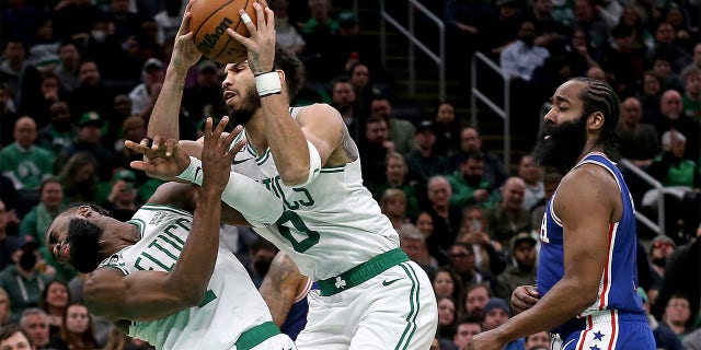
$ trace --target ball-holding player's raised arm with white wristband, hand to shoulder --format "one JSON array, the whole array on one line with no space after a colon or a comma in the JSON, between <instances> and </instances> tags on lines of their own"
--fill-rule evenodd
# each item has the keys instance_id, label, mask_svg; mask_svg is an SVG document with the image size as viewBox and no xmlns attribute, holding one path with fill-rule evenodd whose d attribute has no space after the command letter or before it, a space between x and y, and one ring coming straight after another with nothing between
<instances>
[{"instance_id":1,"label":"ball-holding player's raised arm with white wristband, hand to shoulder","mask_svg":"<svg viewBox=\"0 0 701 350\"><path fill-rule=\"evenodd\" d=\"M246 38L233 31L228 33L249 51L246 63L261 97L265 138L280 178L288 186L301 185L310 180L341 144L343 121L334 108L321 104L306 107L297 120L290 117L289 102L300 77L288 75L292 70L281 67L292 62L286 61L285 55L276 50L273 11L260 3L253 7L257 23L244 20L251 36ZM242 19L248 18L243 11L239 14ZM290 85L297 88L290 90Z\"/></svg>"}]
</instances>

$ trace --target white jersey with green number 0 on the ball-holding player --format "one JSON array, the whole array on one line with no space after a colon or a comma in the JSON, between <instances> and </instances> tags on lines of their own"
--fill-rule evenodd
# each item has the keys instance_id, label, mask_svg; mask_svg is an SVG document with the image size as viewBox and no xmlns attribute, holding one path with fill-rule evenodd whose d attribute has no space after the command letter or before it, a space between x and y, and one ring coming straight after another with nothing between
<instances>
[{"instance_id":1,"label":"white jersey with green number 0 on the ball-holding player","mask_svg":"<svg viewBox=\"0 0 701 350\"><path fill-rule=\"evenodd\" d=\"M299 109L292 108L292 117ZM337 276L399 248L397 231L363 186L359 160L323 167L303 187L283 184L269 149L258 153L246 144L235 155L233 168L283 200L286 211L278 224L254 230L289 254L313 280Z\"/></svg>"}]
</instances>

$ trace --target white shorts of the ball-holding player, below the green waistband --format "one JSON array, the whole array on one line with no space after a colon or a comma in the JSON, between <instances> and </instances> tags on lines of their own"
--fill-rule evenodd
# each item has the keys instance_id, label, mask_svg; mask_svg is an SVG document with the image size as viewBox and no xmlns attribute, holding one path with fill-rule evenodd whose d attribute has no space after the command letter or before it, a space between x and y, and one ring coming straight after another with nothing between
<instances>
[{"instance_id":1,"label":"white shorts of the ball-holding player, below the green waistband","mask_svg":"<svg viewBox=\"0 0 701 350\"><path fill-rule=\"evenodd\" d=\"M414 261L333 295L312 290L308 301L307 326L296 341L300 350L425 350L438 326L430 280Z\"/></svg>"}]
</instances>

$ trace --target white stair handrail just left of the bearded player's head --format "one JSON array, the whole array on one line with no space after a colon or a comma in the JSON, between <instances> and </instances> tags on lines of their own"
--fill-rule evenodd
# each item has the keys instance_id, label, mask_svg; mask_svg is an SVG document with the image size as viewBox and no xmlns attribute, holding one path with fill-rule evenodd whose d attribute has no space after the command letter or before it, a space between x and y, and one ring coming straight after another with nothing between
<instances>
[{"instance_id":1,"label":"white stair handrail just left of the bearded player's head","mask_svg":"<svg viewBox=\"0 0 701 350\"><path fill-rule=\"evenodd\" d=\"M490 97L483 94L478 88L478 63L484 63L504 80L504 107L497 106ZM504 119L504 166L512 164L512 104L510 104L510 80L504 77L502 69L482 52L474 52L472 56L470 73L470 113L472 114L472 127L478 126L478 98L487 105L492 112Z\"/></svg>"}]
</instances>

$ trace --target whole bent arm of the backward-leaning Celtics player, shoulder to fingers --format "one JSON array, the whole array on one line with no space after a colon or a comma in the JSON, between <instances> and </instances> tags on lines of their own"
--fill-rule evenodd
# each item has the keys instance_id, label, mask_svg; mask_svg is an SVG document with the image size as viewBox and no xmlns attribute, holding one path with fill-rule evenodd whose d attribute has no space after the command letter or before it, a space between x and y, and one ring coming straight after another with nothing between
<instances>
[{"instance_id":1,"label":"whole bent arm of the backward-leaning Celtics player, shoulder to fingers","mask_svg":"<svg viewBox=\"0 0 701 350\"><path fill-rule=\"evenodd\" d=\"M202 302L217 260L219 196L227 186L233 159L229 144L234 136L221 137L225 126L226 120L212 130L211 119L207 120L203 185L198 189L189 234L172 270L143 270L124 276L117 269L97 269L83 290L85 303L93 313L111 320L151 320Z\"/></svg>"}]
</instances>

